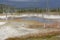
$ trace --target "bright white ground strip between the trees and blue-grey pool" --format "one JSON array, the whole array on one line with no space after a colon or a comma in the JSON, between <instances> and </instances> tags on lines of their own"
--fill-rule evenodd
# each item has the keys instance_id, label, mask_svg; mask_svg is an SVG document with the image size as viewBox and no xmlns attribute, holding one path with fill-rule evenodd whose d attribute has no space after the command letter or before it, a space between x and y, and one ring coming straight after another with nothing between
<instances>
[{"instance_id":1,"label":"bright white ground strip between the trees and blue-grey pool","mask_svg":"<svg viewBox=\"0 0 60 40\"><path fill-rule=\"evenodd\" d=\"M51 13L51 12L50 12ZM53 13L52 13L53 14ZM60 19L60 15L52 15L52 14L44 14L44 13L30 13L30 14L28 14L28 13L22 13L22 14L14 14L14 15L9 15L8 14L8 16L7 17L31 17L31 16L37 16L37 17L43 17L43 18L46 18L46 19ZM0 18L2 18L2 19L4 19L4 18L6 18L6 16L5 15L3 15L3 14L0 14Z\"/></svg>"}]
</instances>

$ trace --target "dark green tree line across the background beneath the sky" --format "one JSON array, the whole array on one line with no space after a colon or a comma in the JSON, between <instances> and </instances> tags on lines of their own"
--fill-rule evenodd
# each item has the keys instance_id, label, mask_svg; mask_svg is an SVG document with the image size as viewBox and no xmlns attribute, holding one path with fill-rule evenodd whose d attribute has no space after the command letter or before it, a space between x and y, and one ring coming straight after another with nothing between
<instances>
[{"instance_id":1,"label":"dark green tree line across the background beneath the sky","mask_svg":"<svg viewBox=\"0 0 60 40\"><path fill-rule=\"evenodd\" d=\"M5 9L5 11L8 10L8 9ZM43 9L43 8L19 8L19 9L14 9L14 10L11 10L11 11L14 11L15 12L16 10L16 13L25 13L25 12L33 12L33 13L42 13L42 12L47 12L46 9ZM9 10L9 12L11 12ZM60 12L60 9L59 8L56 8L56 9L49 9L50 12ZM3 13L3 9L0 9L0 13Z\"/></svg>"}]
</instances>

